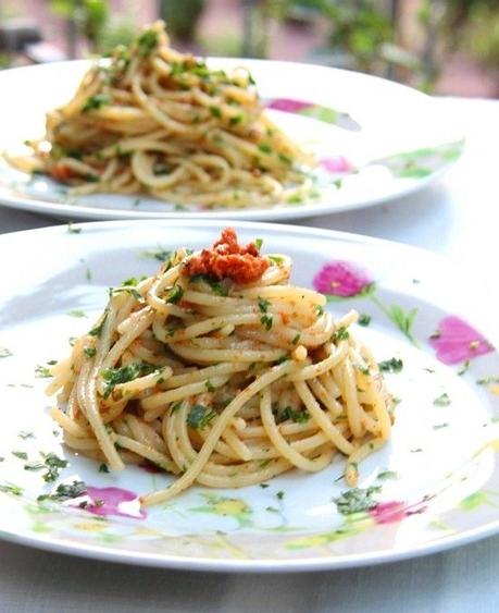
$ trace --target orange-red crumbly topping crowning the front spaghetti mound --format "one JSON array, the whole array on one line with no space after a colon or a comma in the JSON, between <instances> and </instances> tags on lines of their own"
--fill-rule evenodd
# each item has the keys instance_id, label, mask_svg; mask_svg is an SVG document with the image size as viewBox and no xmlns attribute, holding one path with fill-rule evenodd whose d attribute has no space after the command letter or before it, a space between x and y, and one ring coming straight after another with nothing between
<instances>
[{"instance_id":1,"label":"orange-red crumbly topping crowning the front spaghetti mound","mask_svg":"<svg viewBox=\"0 0 499 613\"><path fill-rule=\"evenodd\" d=\"M251 283L260 279L269 266L269 260L260 255L254 243L241 247L236 231L225 228L211 249L203 249L186 261L183 274L207 274L213 279L228 278L236 283Z\"/></svg>"}]
</instances>

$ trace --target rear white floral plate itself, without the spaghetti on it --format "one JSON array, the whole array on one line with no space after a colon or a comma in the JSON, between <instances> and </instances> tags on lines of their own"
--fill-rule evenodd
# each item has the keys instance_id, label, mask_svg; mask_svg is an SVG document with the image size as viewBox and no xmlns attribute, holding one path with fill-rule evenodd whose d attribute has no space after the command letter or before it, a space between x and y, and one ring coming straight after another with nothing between
<instances>
[{"instance_id":1,"label":"rear white floral plate itself, without the spaghetti on it","mask_svg":"<svg viewBox=\"0 0 499 613\"><path fill-rule=\"evenodd\" d=\"M202 210L147 196L70 198L46 177L0 161L0 203L66 219L210 217L284 220L383 203L422 188L445 172L463 147L459 125L424 94L382 78L323 66L258 60L210 59L246 65L269 112L321 160L316 197L272 208ZM89 62L63 62L0 72L0 150L17 151L45 132L45 114L76 89Z\"/></svg>"}]
</instances>

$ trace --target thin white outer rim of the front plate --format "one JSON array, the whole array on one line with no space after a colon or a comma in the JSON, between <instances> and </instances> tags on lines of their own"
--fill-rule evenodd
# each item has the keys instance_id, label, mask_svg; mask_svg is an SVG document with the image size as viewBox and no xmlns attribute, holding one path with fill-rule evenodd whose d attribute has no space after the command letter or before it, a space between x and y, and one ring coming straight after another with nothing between
<instances>
[{"instance_id":1,"label":"thin white outer rim of the front plate","mask_svg":"<svg viewBox=\"0 0 499 613\"><path fill-rule=\"evenodd\" d=\"M186 220L164 220L165 224L170 226L183 226L184 229L197 228L197 229L220 229L220 225L234 225L237 229L242 230L254 230L254 231L267 231L270 233L277 233L286 235L288 233L296 233L303 237L322 237L328 238L332 243L335 242L349 242L355 244L367 244L378 246L379 248L389 249L402 249L406 253L414 254L414 256L420 255L425 258L431 258L437 260L444 266L456 268L458 261L453 258L445 256L442 254L432 252L414 245L408 245L404 243L377 238L372 236L366 236L362 234L357 234L352 232L342 232L336 230L328 230L322 228L311 228L303 225L291 225L282 223L261 223L253 221L236 221L236 220L217 220L217 219L197 219L192 220L192 223L186 223ZM136 225L141 228L137 229ZM104 231L105 233L113 233L115 231L134 231L140 232L142 228L152 229L154 232L160 232L161 228L158 223L153 223L151 220L134 220L133 224L130 220L126 221L93 221L78 223L78 228L83 231L97 230ZM9 243L13 245L18 245L22 248L24 241L29 240L29 237L35 233L37 236L42 235L53 235L60 234L61 237L65 236L67 232L64 224L51 225L47 228L38 228L33 230L22 230L17 232L11 232L5 234L0 234L0 249L9 247ZM173 240L173 237L172 237ZM489 332L489 331L488 331ZM492 331L490 331L492 332ZM496 335L492 334L490 338L492 344L497 346ZM374 564L386 564L403 560L411 560L420 557L423 555L429 555L434 553L445 552L457 547L462 547L481 539L491 537L499 534L499 516L489 520L485 524L461 530L458 534L445 535L437 537L435 540L422 543L422 544L411 544L399 547L396 550L384 550L382 552L367 552L367 553L353 553L353 554L341 554L335 556L333 553L324 557L317 556L304 556L302 559L215 559L207 556L191 556L183 557L176 554L157 554L157 553L142 553L140 551L126 551L120 549L113 549L104 544L99 544L96 547L95 543L79 543L75 541L64 540L62 538L53 539L50 536L42 536L36 532L27 535L23 532L13 532L9 530L9 527L0 526L0 539L8 542L22 544L25 547L33 547L39 550L51 551L55 553L62 553L66 555L73 555L78 557L101 560L107 562L115 562L130 565L150 566L150 567L162 567L170 569L179 571L204 571L204 572L217 572L217 573L296 573L296 572L319 572L319 571L336 571L352 567L363 567L366 565Z\"/></svg>"}]
</instances>

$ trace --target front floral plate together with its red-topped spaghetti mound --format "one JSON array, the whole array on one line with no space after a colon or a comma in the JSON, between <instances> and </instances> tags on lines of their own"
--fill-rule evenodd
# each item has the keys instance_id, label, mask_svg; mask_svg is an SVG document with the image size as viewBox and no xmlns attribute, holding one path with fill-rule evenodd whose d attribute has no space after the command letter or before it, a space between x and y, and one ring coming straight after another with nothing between
<instances>
[{"instance_id":1,"label":"front floral plate together with its red-topped spaghetti mound","mask_svg":"<svg viewBox=\"0 0 499 613\"><path fill-rule=\"evenodd\" d=\"M10 234L0 255L3 538L282 572L497 532L494 314L437 256L215 220Z\"/></svg>"}]
</instances>

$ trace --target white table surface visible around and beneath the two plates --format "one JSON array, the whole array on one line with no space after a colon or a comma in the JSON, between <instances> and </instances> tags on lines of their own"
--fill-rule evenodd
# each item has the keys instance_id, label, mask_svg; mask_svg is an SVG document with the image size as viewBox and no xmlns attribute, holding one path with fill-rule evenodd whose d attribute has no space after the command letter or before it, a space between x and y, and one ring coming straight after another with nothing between
<instances>
[{"instance_id":1,"label":"white table surface visible around and beneath the two plates","mask_svg":"<svg viewBox=\"0 0 499 613\"><path fill-rule=\"evenodd\" d=\"M461 160L412 196L300 223L446 254L489 278L497 261L499 100L439 98L463 125ZM59 223L0 207L0 232ZM496 255L497 257L497 255ZM499 606L499 536L396 564L298 575L228 575L124 566L0 542L0 612L475 612Z\"/></svg>"}]
</instances>

